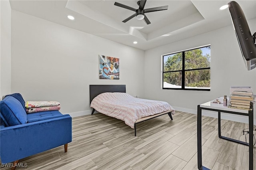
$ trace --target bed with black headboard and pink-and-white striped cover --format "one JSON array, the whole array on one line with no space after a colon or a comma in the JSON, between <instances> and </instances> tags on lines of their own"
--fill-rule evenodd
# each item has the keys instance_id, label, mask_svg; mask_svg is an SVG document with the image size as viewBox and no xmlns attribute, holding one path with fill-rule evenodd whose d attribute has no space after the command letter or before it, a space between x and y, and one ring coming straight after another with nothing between
<instances>
[{"instance_id":1,"label":"bed with black headboard and pink-and-white striped cover","mask_svg":"<svg viewBox=\"0 0 256 170\"><path fill-rule=\"evenodd\" d=\"M138 99L126 93L126 85L90 85L92 115L98 111L115 117L134 128L138 123L168 114L172 119L174 109L166 102Z\"/></svg>"}]
</instances>

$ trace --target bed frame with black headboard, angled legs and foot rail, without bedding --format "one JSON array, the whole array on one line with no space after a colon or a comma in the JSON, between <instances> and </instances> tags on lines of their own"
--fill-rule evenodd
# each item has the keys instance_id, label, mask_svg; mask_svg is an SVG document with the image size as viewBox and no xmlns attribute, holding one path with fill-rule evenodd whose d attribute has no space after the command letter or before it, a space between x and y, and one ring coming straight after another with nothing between
<instances>
[{"instance_id":1,"label":"bed frame with black headboard, angled legs and foot rail, without bedding","mask_svg":"<svg viewBox=\"0 0 256 170\"><path fill-rule=\"evenodd\" d=\"M97 95L101 94L101 93L105 93L105 92L121 92L121 93L126 93L126 85L90 85L90 103L92 103L92 100L94 99L94 97L96 97ZM95 109L92 109L92 115L94 113ZM162 115L168 114L170 119L172 119L172 114L170 111L165 111L162 113L158 113L155 115L151 115L148 117L142 117L141 119L136 120L136 122L134 123L134 136L136 136L136 125L138 123L153 119L155 117L159 117Z\"/></svg>"}]
</instances>

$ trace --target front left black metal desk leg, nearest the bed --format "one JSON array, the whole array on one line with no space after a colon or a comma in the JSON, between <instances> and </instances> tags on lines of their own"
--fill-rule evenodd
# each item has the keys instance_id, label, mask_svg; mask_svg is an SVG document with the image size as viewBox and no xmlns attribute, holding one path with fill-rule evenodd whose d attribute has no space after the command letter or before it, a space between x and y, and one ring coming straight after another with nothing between
<instances>
[{"instance_id":1,"label":"front left black metal desk leg, nearest the bed","mask_svg":"<svg viewBox=\"0 0 256 170\"><path fill-rule=\"evenodd\" d=\"M202 109L197 106L197 166L202 169Z\"/></svg>"}]
</instances>

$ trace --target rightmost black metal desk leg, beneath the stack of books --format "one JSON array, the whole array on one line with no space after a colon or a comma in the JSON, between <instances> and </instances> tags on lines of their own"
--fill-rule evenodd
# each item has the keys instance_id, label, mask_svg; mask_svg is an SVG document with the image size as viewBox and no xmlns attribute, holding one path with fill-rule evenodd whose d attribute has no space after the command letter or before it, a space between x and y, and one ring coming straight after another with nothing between
<instances>
[{"instance_id":1,"label":"rightmost black metal desk leg, beneath the stack of books","mask_svg":"<svg viewBox=\"0 0 256 170\"><path fill-rule=\"evenodd\" d=\"M253 168L253 111L249 111L249 170Z\"/></svg>"}]
</instances>

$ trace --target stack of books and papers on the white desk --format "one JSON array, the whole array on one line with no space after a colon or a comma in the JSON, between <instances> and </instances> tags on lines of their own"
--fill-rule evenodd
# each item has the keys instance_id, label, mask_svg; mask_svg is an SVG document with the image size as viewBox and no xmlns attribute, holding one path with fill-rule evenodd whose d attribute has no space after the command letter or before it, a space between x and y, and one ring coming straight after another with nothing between
<instances>
[{"instance_id":1,"label":"stack of books and papers on the white desk","mask_svg":"<svg viewBox=\"0 0 256 170\"><path fill-rule=\"evenodd\" d=\"M228 107L235 109L251 110L254 100L251 88L230 88Z\"/></svg>"}]
</instances>

